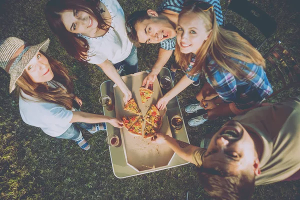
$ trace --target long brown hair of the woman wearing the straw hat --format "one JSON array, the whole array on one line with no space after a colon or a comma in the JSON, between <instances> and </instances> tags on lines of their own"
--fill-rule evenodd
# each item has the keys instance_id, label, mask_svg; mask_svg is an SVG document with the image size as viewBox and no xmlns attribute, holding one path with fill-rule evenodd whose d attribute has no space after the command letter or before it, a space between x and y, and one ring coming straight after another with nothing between
<instances>
[{"instance_id":1,"label":"long brown hair of the woman wearing the straw hat","mask_svg":"<svg viewBox=\"0 0 300 200\"><path fill-rule=\"evenodd\" d=\"M56 80L61 83L65 88L62 87L49 87L46 83L33 82L26 72L23 71L22 75L16 80L17 93L21 95L20 89L27 95L37 98L42 102L56 103L64 106L66 109L72 109L72 98L74 96L72 76L68 75L68 71L57 60L47 56L45 53L40 51L49 61L51 70L54 74L52 80ZM22 98L26 99L21 95Z\"/></svg>"}]
</instances>

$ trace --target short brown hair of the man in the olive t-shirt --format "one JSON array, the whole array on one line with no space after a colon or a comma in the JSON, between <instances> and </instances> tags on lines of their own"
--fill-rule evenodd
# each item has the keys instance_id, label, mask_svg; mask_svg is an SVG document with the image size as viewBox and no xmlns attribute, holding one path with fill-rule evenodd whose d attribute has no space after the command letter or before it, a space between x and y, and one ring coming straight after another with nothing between
<instances>
[{"instance_id":1,"label":"short brown hair of the man in the olive t-shirt","mask_svg":"<svg viewBox=\"0 0 300 200\"><path fill-rule=\"evenodd\" d=\"M247 200L254 191L254 172L241 171L238 175L230 175L218 168L197 169L200 183L208 194L216 199Z\"/></svg>"}]
</instances>

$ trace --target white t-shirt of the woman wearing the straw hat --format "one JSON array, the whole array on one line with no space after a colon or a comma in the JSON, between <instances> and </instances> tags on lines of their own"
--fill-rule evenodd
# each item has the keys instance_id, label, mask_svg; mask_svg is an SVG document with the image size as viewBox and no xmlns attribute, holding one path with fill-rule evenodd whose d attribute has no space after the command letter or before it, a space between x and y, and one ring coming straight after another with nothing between
<instances>
[{"instance_id":1,"label":"white t-shirt of the woman wearing the straw hat","mask_svg":"<svg viewBox=\"0 0 300 200\"><path fill-rule=\"evenodd\" d=\"M53 81L47 82L48 85L53 87L56 87L55 83L61 85L56 81L53 84ZM53 137L64 133L72 124L70 123L73 117L71 110L55 103L40 102L39 99L25 94L22 90L20 92L26 98L19 96L19 110L25 123L40 127L42 131Z\"/></svg>"}]
</instances>

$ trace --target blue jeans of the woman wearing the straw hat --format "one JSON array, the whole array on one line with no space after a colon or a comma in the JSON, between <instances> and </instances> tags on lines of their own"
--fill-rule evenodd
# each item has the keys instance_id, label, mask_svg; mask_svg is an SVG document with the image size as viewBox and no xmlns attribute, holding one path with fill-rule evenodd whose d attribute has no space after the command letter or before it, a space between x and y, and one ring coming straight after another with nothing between
<instances>
[{"instance_id":1,"label":"blue jeans of the woman wearing the straw hat","mask_svg":"<svg viewBox=\"0 0 300 200\"><path fill-rule=\"evenodd\" d=\"M75 122L78 124L81 128L84 128L86 130L91 130L92 129L92 124L91 123L84 123L84 122ZM82 133L77 128L74 123L71 124L71 126L61 135L57 136L56 138L61 138L61 139L71 139L71 140L78 140L82 137Z\"/></svg>"}]
</instances>

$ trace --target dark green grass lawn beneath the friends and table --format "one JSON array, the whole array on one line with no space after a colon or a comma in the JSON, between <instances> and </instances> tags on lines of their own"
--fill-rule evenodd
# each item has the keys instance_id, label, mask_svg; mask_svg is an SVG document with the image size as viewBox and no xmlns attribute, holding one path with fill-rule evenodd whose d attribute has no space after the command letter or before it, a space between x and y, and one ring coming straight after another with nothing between
<instances>
[{"instance_id":1,"label":"dark green grass lawn beneath the friends and table","mask_svg":"<svg viewBox=\"0 0 300 200\"><path fill-rule=\"evenodd\" d=\"M36 44L49 37L47 53L66 65L77 79L75 93L83 101L82 110L102 113L98 102L100 84L107 76L91 64L81 64L70 57L52 34L43 14L47 0L1 0L0 39L16 36ZM126 15L138 9L155 9L162 0L119 0ZM297 0L251 0L275 18L277 31L262 46L264 54L276 40L281 40L292 55L300 57L300 14ZM223 11L225 0L221 0ZM236 15L228 20L261 40L258 31ZM143 45L138 49L139 70L150 69L157 56L158 45ZM173 58L172 58L173 59ZM176 73L175 82L183 74ZM270 73L271 83L277 85ZM203 82L203 81L202 81ZM196 177L195 166L187 164L125 179L113 175L105 132L88 135L91 148L81 150L73 141L47 136L40 128L25 124L19 114L18 97L9 94L9 75L0 70L0 199L184 199L185 190L204 193ZM184 105L194 101L200 86L189 86L178 94L185 123L191 117ZM299 95L291 89L271 101ZM198 127L188 127L191 144L199 145L205 134L216 131L227 118L209 121ZM257 186L253 199L299 199L300 180ZM207 199L201 195L193 198Z\"/></svg>"}]
</instances>

